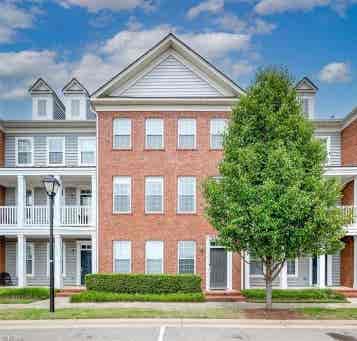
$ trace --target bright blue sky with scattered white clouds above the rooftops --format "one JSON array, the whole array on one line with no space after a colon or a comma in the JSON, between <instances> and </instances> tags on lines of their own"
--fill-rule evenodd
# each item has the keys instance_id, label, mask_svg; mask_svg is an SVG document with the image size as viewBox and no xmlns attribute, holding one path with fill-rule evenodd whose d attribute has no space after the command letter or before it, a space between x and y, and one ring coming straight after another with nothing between
<instances>
[{"instance_id":1,"label":"bright blue sky with scattered white clouds above the rooftops","mask_svg":"<svg viewBox=\"0 0 357 341\"><path fill-rule=\"evenodd\" d=\"M0 114L30 118L28 87L99 85L168 32L247 87L286 66L320 88L319 117L357 105L357 0L0 0Z\"/></svg>"}]
</instances>

